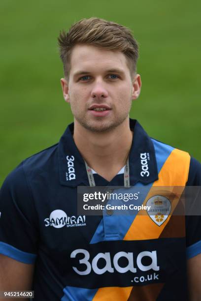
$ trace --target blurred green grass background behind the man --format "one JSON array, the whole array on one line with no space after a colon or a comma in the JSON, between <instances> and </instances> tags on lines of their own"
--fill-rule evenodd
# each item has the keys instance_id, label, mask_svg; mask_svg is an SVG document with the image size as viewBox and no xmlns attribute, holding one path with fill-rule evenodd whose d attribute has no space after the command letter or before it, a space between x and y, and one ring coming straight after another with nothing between
<instances>
[{"instance_id":1,"label":"blurred green grass background behind the man","mask_svg":"<svg viewBox=\"0 0 201 301\"><path fill-rule=\"evenodd\" d=\"M200 11L199 0L1 0L0 185L73 121L57 37L92 16L130 27L139 42L142 91L130 116L151 137L201 161Z\"/></svg>"}]
</instances>

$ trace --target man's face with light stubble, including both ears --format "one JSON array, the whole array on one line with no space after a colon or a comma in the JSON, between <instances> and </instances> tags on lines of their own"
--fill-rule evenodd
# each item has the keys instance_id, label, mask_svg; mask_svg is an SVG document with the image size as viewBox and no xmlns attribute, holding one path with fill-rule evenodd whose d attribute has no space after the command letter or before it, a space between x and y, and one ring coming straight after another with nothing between
<instances>
[{"instance_id":1,"label":"man's face with light stubble, including both ears","mask_svg":"<svg viewBox=\"0 0 201 301\"><path fill-rule=\"evenodd\" d=\"M111 130L129 118L132 99L140 93L140 76L131 78L128 61L120 51L76 45L71 53L68 81L62 79L75 126L93 132Z\"/></svg>"}]
</instances>

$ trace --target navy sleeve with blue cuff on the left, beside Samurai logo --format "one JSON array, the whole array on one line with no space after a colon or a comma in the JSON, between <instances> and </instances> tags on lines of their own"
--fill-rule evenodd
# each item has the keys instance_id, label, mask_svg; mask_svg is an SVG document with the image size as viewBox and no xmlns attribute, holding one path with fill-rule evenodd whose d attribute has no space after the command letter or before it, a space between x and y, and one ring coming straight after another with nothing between
<instances>
[{"instance_id":1,"label":"navy sleeve with blue cuff on the left, beside Samurai logo","mask_svg":"<svg viewBox=\"0 0 201 301\"><path fill-rule=\"evenodd\" d=\"M37 254L37 216L23 163L0 189L0 254L33 264Z\"/></svg>"}]
</instances>

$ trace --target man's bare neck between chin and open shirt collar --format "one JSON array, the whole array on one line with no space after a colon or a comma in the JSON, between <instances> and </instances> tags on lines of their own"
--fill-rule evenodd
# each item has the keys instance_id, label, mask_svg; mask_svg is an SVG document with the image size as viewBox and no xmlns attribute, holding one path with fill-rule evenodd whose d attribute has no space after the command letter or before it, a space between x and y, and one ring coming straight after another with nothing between
<instances>
[{"instance_id":1,"label":"man's bare neck between chin and open shirt collar","mask_svg":"<svg viewBox=\"0 0 201 301\"><path fill-rule=\"evenodd\" d=\"M133 140L129 118L108 132L92 132L74 123L74 142L88 166L110 181L125 166Z\"/></svg>"}]
</instances>

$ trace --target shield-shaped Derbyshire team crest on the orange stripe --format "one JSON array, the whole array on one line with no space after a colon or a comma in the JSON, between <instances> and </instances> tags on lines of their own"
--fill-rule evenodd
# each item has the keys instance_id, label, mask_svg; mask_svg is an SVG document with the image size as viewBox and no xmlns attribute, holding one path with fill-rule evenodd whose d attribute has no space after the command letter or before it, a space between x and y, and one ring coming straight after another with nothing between
<instances>
[{"instance_id":1,"label":"shield-shaped Derbyshire team crest on the orange stripe","mask_svg":"<svg viewBox=\"0 0 201 301\"><path fill-rule=\"evenodd\" d=\"M171 212L170 201L162 195L154 195L146 202L146 206L150 206L147 210L150 218L160 227Z\"/></svg>"}]
</instances>

